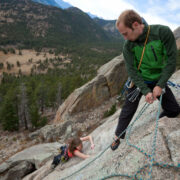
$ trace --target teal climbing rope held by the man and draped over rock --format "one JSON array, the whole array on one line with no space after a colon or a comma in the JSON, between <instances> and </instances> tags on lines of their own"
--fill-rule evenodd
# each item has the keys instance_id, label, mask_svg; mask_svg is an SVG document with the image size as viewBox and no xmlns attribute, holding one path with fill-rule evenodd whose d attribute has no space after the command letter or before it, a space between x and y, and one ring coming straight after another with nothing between
<instances>
[{"instance_id":1,"label":"teal climbing rope held by the man and draped over rock","mask_svg":"<svg viewBox=\"0 0 180 180\"><path fill-rule=\"evenodd\" d=\"M175 88L180 88L179 85L176 85L174 83L172 83L171 81L168 81L168 85L170 85L175 87ZM149 107L150 104L148 103L145 103L144 106L142 107L142 109L139 111L137 117L135 118L135 120L119 135L118 138L121 137L121 135L123 133L125 133L127 131L127 135L126 135L126 142L129 146L137 149L139 152L143 153L145 155L145 157L149 158L150 159L150 164L145 164L143 167L139 168L138 171L133 174L133 175L129 175L129 174L111 174L111 175L108 175L108 176L105 176L105 177L102 177L101 179L104 180L104 179L109 179L111 177L118 177L118 176L121 176L121 177L127 177L127 178L131 178L131 179L139 179L137 177L137 175L145 170L145 168L149 167L149 180L152 179L152 167L153 166L161 166L163 168L176 168L176 169L180 169L180 162L178 163L178 165L174 165L174 164L167 164L167 163L158 163L155 161L155 152L156 152L156 140L157 140L157 132L158 132L158 120L159 120L159 115L160 115L160 108L161 108L161 103L162 103L162 95L160 96L160 100L159 100L159 105L158 105L158 112L157 112L157 115L156 115L156 126L155 126L155 130L154 130L154 137L153 137L153 145L152 145L152 154L148 154L146 153L144 150L142 150L141 148L139 148L138 146L136 145L133 145L129 142L129 137L130 137L130 134L131 134L131 130L132 130L132 127L133 125L135 124L135 122L141 117L141 115L146 111L146 109ZM109 148L110 148L111 144L108 145L99 155L97 155L94 159L92 159L90 162L88 162L86 165L84 165L83 167L81 167L79 170L73 172L72 174L70 174L69 176L66 176L64 178L61 178L60 180L65 180L67 178L70 178L71 176L77 174L78 172L80 172L81 170L83 170L84 168L86 168L88 165L90 165L91 163L93 163L96 159L98 159L99 157L101 157ZM140 178L141 179L141 178Z\"/></svg>"}]
</instances>

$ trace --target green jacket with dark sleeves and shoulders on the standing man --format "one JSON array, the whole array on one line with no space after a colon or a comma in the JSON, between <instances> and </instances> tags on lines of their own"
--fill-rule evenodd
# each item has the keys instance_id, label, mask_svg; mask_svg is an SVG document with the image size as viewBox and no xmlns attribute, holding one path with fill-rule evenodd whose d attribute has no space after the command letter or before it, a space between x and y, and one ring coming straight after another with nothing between
<instances>
[{"instance_id":1,"label":"green jacket with dark sleeves and shoulders on the standing man","mask_svg":"<svg viewBox=\"0 0 180 180\"><path fill-rule=\"evenodd\" d=\"M151 90L146 81L157 81L164 88L176 68L177 47L174 35L167 26L151 25L143 60L138 71L148 26L136 41L126 41L123 48L126 69L132 81L146 95Z\"/></svg>"}]
</instances>

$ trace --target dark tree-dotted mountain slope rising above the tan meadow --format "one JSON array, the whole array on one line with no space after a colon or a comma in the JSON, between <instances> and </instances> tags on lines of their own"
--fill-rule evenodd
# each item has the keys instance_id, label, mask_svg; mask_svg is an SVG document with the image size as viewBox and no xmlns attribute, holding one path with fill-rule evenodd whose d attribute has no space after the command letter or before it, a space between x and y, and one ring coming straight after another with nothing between
<instances>
[{"instance_id":1,"label":"dark tree-dotted mountain slope rising above the tan meadow","mask_svg":"<svg viewBox=\"0 0 180 180\"><path fill-rule=\"evenodd\" d=\"M77 8L63 10L30 0L2 0L0 4L1 45L56 47L110 40L100 26Z\"/></svg>"}]
</instances>

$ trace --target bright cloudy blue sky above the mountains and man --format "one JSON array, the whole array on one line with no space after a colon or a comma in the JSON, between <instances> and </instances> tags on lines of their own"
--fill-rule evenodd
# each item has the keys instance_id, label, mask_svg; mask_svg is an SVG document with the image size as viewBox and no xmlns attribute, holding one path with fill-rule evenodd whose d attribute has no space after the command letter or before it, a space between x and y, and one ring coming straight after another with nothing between
<instances>
[{"instance_id":1,"label":"bright cloudy blue sky above the mountains and man","mask_svg":"<svg viewBox=\"0 0 180 180\"><path fill-rule=\"evenodd\" d=\"M180 0L64 0L84 12L106 20L117 19L126 9L138 12L148 24L180 26Z\"/></svg>"}]
</instances>

